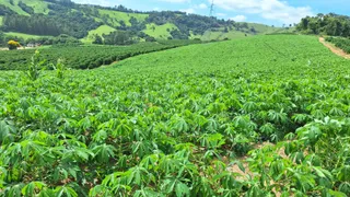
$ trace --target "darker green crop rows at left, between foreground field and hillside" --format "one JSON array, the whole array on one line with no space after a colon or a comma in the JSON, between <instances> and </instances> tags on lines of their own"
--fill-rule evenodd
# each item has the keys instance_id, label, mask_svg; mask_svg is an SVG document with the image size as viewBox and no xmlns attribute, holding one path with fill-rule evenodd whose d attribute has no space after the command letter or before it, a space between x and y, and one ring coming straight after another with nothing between
<instances>
[{"instance_id":1,"label":"darker green crop rows at left, between foreground field and hillside","mask_svg":"<svg viewBox=\"0 0 350 197\"><path fill-rule=\"evenodd\" d=\"M40 49L40 54L47 60L47 65L56 63L57 59L61 58L72 69L93 69L132 56L198 43L200 42L167 40L131 46L62 46ZM25 69L35 49L0 51L0 70Z\"/></svg>"}]
</instances>

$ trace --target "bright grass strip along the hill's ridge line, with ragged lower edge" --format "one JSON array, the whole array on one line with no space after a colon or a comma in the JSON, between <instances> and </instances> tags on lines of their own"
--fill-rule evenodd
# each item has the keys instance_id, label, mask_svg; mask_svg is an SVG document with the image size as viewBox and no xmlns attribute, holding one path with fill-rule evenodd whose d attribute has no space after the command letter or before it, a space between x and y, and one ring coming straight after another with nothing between
<instances>
[{"instance_id":1,"label":"bright grass strip along the hill's ridge line, with ragged lower edge","mask_svg":"<svg viewBox=\"0 0 350 197\"><path fill-rule=\"evenodd\" d=\"M106 14L108 15L109 23L112 23L115 26L119 26L119 21L124 21L127 26L131 26L131 23L129 20L131 16L136 18L138 21L142 22L144 21L149 14L140 14L140 13L125 13L125 12L119 12L119 11L113 11L113 10L98 10L100 14Z\"/></svg>"}]
</instances>

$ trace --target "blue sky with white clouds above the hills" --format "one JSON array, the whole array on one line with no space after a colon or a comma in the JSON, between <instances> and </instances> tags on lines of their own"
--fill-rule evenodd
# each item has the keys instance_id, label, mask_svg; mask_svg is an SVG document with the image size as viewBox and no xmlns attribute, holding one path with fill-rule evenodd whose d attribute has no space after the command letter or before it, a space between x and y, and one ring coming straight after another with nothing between
<instances>
[{"instance_id":1,"label":"blue sky with white clouds above the hills","mask_svg":"<svg viewBox=\"0 0 350 197\"><path fill-rule=\"evenodd\" d=\"M115 7L122 4L140 11L184 11L237 22L282 26L299 23L306 15L334 12L349 14L350 0L72 0L77 3Z\"/></svg>"}]
</instances>

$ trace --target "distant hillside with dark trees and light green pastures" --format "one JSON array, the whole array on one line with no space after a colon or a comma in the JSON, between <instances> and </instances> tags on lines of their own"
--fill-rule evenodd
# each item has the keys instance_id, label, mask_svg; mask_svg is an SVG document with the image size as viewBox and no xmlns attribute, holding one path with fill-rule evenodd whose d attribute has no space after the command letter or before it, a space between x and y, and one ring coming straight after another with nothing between
<instances>
[{"instance_id":1,"label":"distant hillside with dark trees and light green pastures","mask_svg":"<svg viewBox=\"0 0 350 197\"><path fill-rule=\"evenodd\" d=\"M217 18L162 11L140 12L122 5L105 8L70 0L0 0L3 32L58 36L67 34L85 43L96 36L108 39L115 31L140 39L225 39L257 34L292 32L262 24L237 23Z\"/></svg>"}]
</instances>

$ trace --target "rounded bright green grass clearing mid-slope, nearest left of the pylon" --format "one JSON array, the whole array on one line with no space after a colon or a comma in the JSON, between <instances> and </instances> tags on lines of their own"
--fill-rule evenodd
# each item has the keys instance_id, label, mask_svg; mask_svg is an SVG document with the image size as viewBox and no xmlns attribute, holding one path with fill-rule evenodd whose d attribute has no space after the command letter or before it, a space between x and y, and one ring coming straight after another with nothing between
<instances>
[{"instance_id":1,"label":"rounded bright green grass clearing mid-slope, nearest left of the pylon","mask_svg":"<svg viewBox=\"0 0 350 197\"><path fill-rule=\"evenodd\" d=\"M166 23L164 25L156 25L154 23L151 23L147 24L147 30L144 30L143 32L152 37L166 39L172 36L171 31L175 28L177 28L177 26L172 23Z\"/></svg>"}]
</instances>

